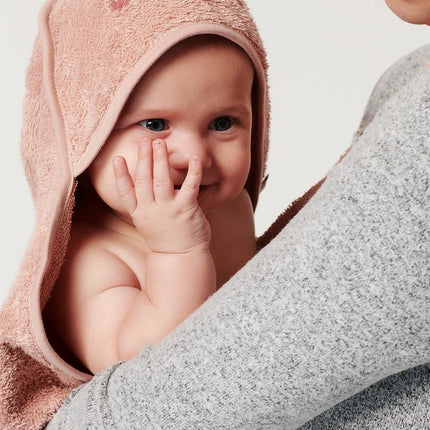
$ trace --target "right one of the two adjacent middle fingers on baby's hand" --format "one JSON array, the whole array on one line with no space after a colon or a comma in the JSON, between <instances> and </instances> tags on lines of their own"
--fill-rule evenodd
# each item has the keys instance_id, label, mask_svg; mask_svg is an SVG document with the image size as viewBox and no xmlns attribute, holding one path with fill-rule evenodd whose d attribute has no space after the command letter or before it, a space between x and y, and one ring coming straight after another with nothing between
<instances>
[{"instance_id":1,"label":"right one of the two adjacent middle fingers on baby's hand","mask_svg":"<svg viewBox=\"0 0 430 430\"><path fill-rule=\"evenodd\" d=\"M173 198L173 182L170 175L170 166L167 159L167 148L163 140L153 142L153 189L157 203L168 203Z\"/></svg>"}]
</instances>

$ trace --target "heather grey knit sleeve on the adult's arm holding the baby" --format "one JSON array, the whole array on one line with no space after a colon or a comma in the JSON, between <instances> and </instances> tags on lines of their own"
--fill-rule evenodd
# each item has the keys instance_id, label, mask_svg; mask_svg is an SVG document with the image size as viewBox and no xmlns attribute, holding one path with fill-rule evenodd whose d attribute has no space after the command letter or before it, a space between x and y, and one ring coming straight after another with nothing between
<instances>
[{"instance_id":1,"label":"heather grey knit sleeve on the adult's arm holding the baby","mask_svg":"<svg viewBox=\"0 0 430 430\"><path fill-rule=\"evenodd\" d=\"M381 78L351 150L255 258L46 430L429 429L429 60Z\"/></svg>"}]
</instances>

